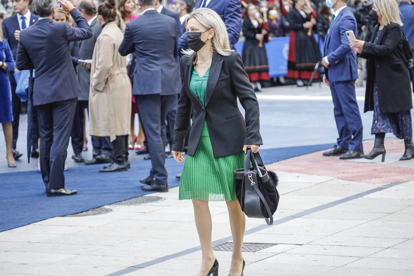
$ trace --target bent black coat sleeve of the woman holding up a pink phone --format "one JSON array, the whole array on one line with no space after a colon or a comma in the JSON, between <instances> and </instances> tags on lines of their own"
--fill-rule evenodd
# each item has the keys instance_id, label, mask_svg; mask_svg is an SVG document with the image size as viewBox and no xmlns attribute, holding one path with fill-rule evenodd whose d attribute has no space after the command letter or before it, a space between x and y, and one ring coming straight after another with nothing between
<instances>
[{"instance_id":1,"label":"bent black coat sleeve of the woman holding up a pink phone","mask_svg":"<svg viewBox=\"0 0 414 276\"><path fill-rule=\"evenodd\" d=\"M362 53L376 56L390 55L401 40L401 27L398 24L390 24L384 31L386 31L386 34L384 34L386 36L384 43L376 45L371 42L365 42L362 48Z\"/></svg>"}]
</instances>

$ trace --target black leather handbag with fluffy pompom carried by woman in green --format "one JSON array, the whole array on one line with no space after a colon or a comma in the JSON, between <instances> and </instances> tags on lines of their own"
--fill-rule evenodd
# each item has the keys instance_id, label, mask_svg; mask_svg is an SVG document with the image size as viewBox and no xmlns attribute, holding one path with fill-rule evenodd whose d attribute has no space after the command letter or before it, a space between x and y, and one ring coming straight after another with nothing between
<instances>
[{"instance_id":1,"label":"black leather handbag with fluffy pompom carried by woman in green","mask_svg":"<svg viewBox=\"0 0 414 276\"><path fill-rule=\"evenodd\" d=\"M279 180L276 173L266 170L260 154L253 154L248 148L244 168L235 170L234 177L236 196L246 216L265 218L267 225L272 225L273 214L279 204L279 193L276 189Z\"/></svg>"}]
</instances>

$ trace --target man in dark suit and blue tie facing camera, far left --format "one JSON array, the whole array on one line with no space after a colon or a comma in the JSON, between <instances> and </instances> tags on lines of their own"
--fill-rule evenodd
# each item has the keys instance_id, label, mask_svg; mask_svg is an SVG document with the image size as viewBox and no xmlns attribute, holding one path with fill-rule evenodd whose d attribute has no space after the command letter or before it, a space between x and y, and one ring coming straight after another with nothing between
<instances>
[{"instance_id":1,"label":"man in dark suit and blue tie facing camera, far left","mask_svg":"<svg viewBox=\"0 0 414 276\"><path fill-rule=\"evenodd\" d=\"M19 41L20 31L34 24L39 18L38 15L30 12L29 0L14 0L13 10L16 14L3 20L3 36L9 42L12 49L13 58L16 60L17 42ZM19 115L20 115L20 98L16 95L16 80L12 72L7 72L12 90L12 110L13 110L13 142L12 151L14 159L20 158L23 154L16 150L17 137L19 135ZM34 149L37 148L37 141Z\"/></svg>"}]
</instances>

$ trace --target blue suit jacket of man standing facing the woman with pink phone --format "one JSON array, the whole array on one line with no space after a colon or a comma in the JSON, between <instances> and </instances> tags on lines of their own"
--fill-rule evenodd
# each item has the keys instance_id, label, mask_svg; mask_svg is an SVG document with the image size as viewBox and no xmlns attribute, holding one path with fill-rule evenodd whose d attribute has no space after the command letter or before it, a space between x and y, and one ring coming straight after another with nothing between
<instances>
[{"instance_id":1,"label":"blue suit jacket of man standing facing the woman with pink phone","mask_svg":"<svg viewBox=\"0 0 414 276\"><path fill-rule=\"evenodd\" d=\"M335 17L325 37L327 57L330 63L328 70L330 82L345 82L358 79L355 52L349 46L346 31L354 31L354 34L357 34L354 14L348 8L344 8Z\"/></svg>"}]
</instances>

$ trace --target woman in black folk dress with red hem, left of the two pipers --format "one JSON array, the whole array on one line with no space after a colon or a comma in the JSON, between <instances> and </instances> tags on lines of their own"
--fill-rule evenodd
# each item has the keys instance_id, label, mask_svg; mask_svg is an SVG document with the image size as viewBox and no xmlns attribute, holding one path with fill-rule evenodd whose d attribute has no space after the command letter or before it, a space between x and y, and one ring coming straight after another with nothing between
<instances>
[{"instance_id":1,"label":"woman in black folk dress with red hem, left of the two pipers","mask_svg":"<svg viewBox=\"0 0 414 276\"><path fill-rule=\"evenodd\" d=\"M263 23L260 24L256 20L255 14L257 18L260 18L257 7L249 4L247 7L247 16L241 25L243 35L246 37L241 56L253 89L255 91L262 91L260 81L269 81L270 77L266 48L264 44L262 44L262 47L259 47L259 43L260 41L265 43L271 38L269 38L267 30L263 29Z\"/></svg>"}]
</instances>

